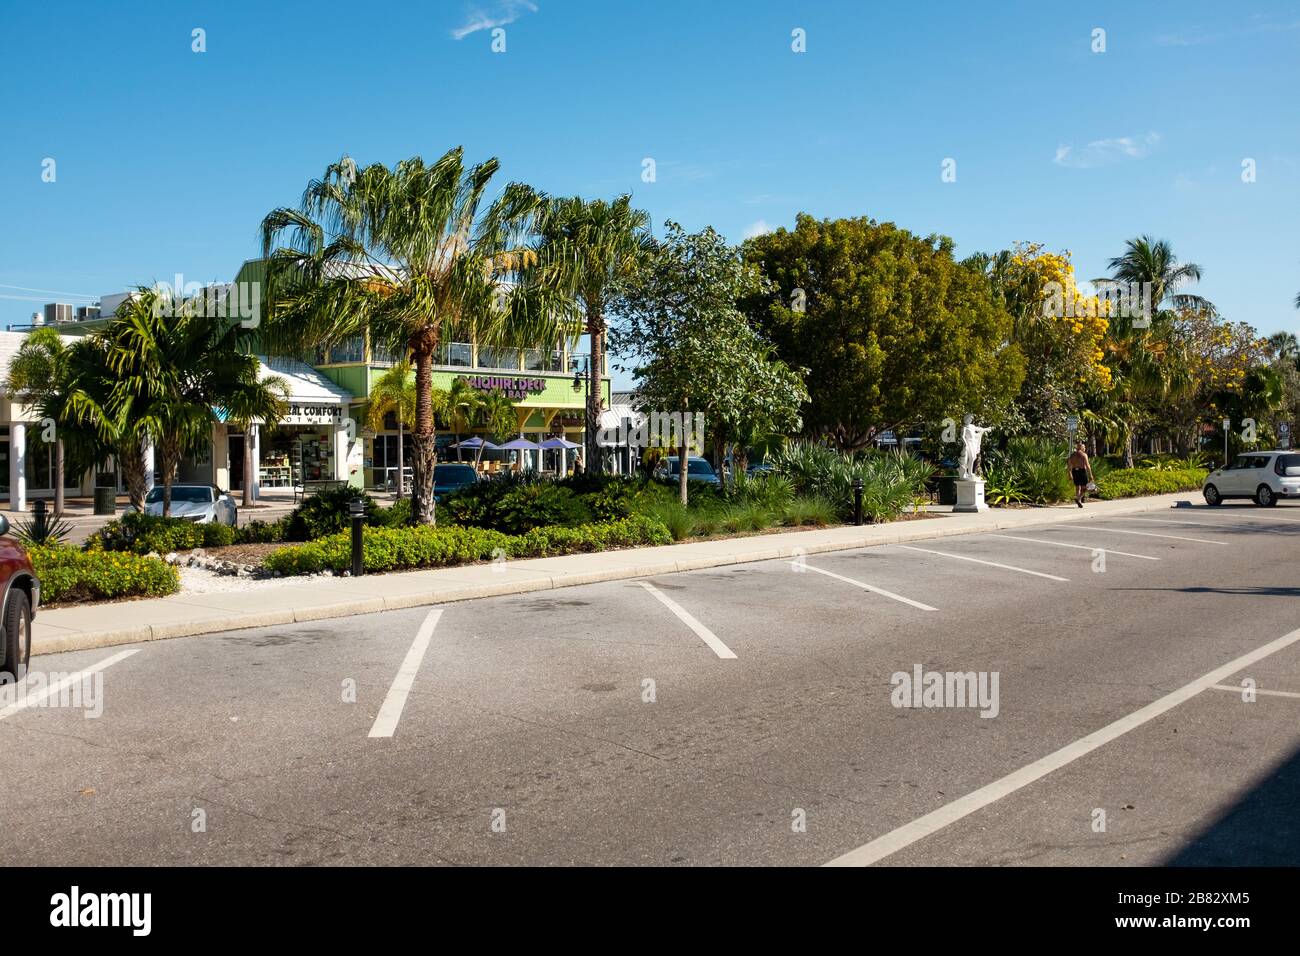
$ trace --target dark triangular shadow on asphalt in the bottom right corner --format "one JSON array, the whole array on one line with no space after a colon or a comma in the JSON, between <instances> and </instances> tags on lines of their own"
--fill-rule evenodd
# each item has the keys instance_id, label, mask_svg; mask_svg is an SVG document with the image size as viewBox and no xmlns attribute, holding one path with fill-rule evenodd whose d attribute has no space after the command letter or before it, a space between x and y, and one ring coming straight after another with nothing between
<instances>
[{"instance_id":1,"label":"dark triangular shadow on asphalt in the bottom right corner","mask_svg":"<svg viewBox=\"0 0 1300 956\"><path fill-rule=\"evenodd\" d=\"M1165 866L1300 866L1300 748Z\"/></svg>"}]
</instances>

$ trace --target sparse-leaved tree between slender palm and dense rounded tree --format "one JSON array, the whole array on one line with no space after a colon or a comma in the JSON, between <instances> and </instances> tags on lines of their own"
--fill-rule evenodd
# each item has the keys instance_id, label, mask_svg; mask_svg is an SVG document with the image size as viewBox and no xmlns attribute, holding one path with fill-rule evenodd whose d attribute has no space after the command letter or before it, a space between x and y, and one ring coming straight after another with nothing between
<instances>
[{"instance_id":1,"label":"sparse-leaved tree between slender palm and dense rounded tree","mask_svg":"<svg viewBox=\"0 0 1300 956\"><path fill-rule=\"evenodd\" d=\"M762 276L712 229L676 222L616 300L611 345L632 363L647 410L703 414L722 440L742 446L760 433L796 431L807 398L800 372L772 358L737 302L762 295ZM679 490L688 498L685 438Z\"/></svg>"}]
</instances>

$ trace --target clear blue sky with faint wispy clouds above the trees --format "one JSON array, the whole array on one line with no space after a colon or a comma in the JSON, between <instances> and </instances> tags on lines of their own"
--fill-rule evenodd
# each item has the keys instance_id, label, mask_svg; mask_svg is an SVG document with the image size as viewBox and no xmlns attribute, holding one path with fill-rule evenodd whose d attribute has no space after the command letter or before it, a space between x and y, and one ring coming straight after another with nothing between
<instances>
[{"instance_id":1,"label":"clear blue sky with faint wispy clouds above the trees","mask_svg":"<svg viewBox=\"0 0 1300 956\"><path fill-rule=\"evenodd\" d=\"M1080 7L10 1L0 328L86 300L29 290L229 280L261 216L343 152L464 144L502 182L630 191L656 232L868 215L958 255L1069 248L1083 278L1152 233L1230 319L1296 330L1300 4Z\"/></svg>"}]
</instances>

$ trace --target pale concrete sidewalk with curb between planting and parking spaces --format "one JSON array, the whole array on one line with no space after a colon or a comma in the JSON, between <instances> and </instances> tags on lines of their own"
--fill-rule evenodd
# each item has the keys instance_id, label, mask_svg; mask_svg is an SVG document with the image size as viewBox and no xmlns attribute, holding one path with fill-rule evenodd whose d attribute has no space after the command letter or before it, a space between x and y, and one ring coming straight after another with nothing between
<instances>
[{"instance_id":1,"label":"pale concrete sidewalk with curb between planting and parking spaces","mask_svg":"<svg viewBox=\"0 0 1300 956\"><path fill-rule=\"evenodd\" d=\"M575 584L696 571L750 561L793 558L874 545L923 541L953 535L1058 524L1108 515L1164 511L1193 502L1195 492L1150 498L1092 502L1086 509L1061 505L1041 509L993 509L858 527L755 535L724 541L698 541L634 548L559 558L529 558L500 564L404 571L364 578L318 578L302 584L211 594L174 594L147 601L78 605L43 610L32 627L32 654L107 648L116 644L187 637L244 627L291 624L322 618L521 594Z\"/></svg>"}]
</instances>

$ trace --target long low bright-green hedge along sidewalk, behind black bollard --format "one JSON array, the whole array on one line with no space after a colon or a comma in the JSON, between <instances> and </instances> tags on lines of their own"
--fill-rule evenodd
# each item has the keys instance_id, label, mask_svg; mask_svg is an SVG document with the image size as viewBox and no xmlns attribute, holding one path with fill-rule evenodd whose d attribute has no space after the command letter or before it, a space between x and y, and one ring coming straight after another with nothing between
<instances>
[{"instance_id":1,"label":"long low bright-green hedge along sidewalk, behind black bollard","mask_svg":"<svg viewBox=\"0 0 1300 956\"><path fill-rule=\"evenodd\" d=\"M668 529L659 522L644 516L582 524L576 528L534 528L526 535L506 535L486 528L458 525L368 528L363 563L365 571L370 574L666 544L672 544ZM346 571L352 566L351 536L332 535L304 545L281 548L268 554L263 563L270 571L282 575Z\"/></svg>"}]
</instances>

